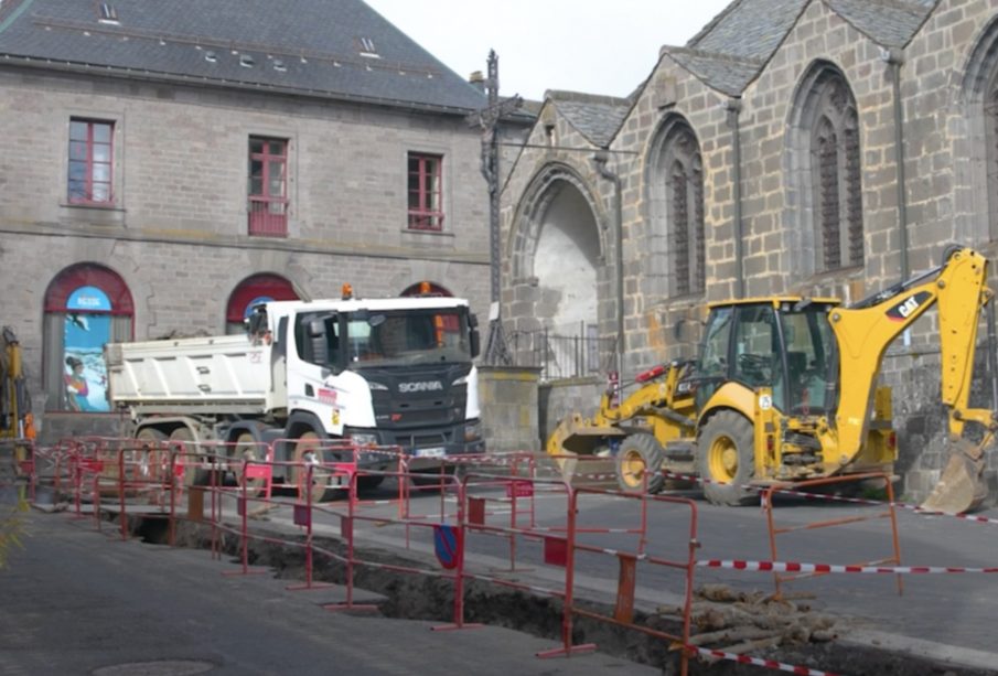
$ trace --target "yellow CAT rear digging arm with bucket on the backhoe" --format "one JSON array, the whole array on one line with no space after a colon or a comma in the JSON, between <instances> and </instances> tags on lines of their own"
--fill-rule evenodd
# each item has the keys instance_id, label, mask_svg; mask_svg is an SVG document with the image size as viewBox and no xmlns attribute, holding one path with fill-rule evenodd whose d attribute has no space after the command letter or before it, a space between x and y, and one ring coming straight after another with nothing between
<instances>
[{"instance_id":1,"label":"yellow CAT rear digging arm with bucket on the backhoe","mask_svg":"<svg viewBox=\"0 0 998 676\"><path fill-rule=\"evenodd\" d=\"M942 401L948 410L954 453L926 508L964 512L984 495L979 474L983 446L990 441L992 411L969 408L974 351L987 287L987 259L969 248L951 247L942 265L901 282L851 308L835 309L829 319L838 342L839 405L835 415L838 459L848 463L861 449L870 422L873 389L888 345L935 305L938 314ZM964 440L966 422L980 423L981 444Z\"/></svg>"}]
</instances>

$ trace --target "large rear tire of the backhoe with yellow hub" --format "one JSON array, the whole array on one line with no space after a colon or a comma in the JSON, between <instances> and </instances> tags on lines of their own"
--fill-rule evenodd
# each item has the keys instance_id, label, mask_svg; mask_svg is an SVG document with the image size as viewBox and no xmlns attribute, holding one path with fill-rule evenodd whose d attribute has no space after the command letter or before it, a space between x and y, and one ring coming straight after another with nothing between
<instances>
[{"instance_id":1,"label":"large rear tire of the backhoe with yellow hub","mask_svg":"<svg viewBox=\"0 0 998 676\"><path fill-rule=\"evenodd\" d=\"M755 449L752 423L744 416L726 410L710 418L697 440L696 463L707 502L759 504L759 492L745 487L755 475Z\"/></svg>"}]
</instances>

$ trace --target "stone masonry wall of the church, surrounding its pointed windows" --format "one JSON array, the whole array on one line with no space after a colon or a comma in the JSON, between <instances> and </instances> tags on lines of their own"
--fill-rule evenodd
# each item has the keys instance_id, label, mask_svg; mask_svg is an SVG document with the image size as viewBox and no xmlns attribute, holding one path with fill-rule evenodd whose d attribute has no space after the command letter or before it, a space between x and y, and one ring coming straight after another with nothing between
<instances>
[{"instance_id":1,"label":"stone masonry wall of the church, surrounding its pointed windows","mask_svg":"<svg viewBox=\"0 0 998 676\"><path fill-rule=\"evenodd\" d=\"M780 8L784 11L747 19L749 12L773 12L777 4L785 6ZM613 288L620 273L625 380L655 363L691 354L705 304L737 297L740 288L744 297L830 294L849 302L898 282L905 272L938 265L951 242L974 246L994 260L998 244L989 214L998 197L988 190L994 170L984 141L986 126L995 124L985 104L998 77L998 2L926 0L881 9L890 15L871 19L855 3L831 0L732 3L687 47L662 50L648 79L620 101L626 112L609 142L579 131L580 116L565 110L572 97L549 95L530 142L555 142L549 149L524 150L504 194L507 325L545 323L544 314L534 312L544 289L530 287L530 270L537 266L532 247L547 218L544 193L551 190L547 178L552 175L575 185L591 206L594 227L583 236L591 237L601 254L590 292L599 300L593 319L603 336L616 332ZM739 40L772 46L756 49ZM727 53L710 46L720 44L730 47ZM816 206L808 195L812 160L805 129L811 87L823 69L841 74L857 109L865 253L862 265L830 271L815 256ZM899 74L903 234L894 155ZM694 130L704 181L707 282L702 293L687 296L670 294L667 285L656 282L657 276L669 275L670 265L668 224L655 211L656 182L663 180L656 153L664 131L677 119ZM601 146L609 150L608 168L621 185L620 271L612 236L614 185L600 178L591 161ZM901 254L905 239L906 260ZM995 282L992 272L992 288L998 287ZM945 447L936 335L933 313L891 346L882 375L894 388L900 469L915 495L924 495L934 482ZM990 407L986 372L977 373L980 386L972 405ZM588 412L595 405L592 401ZM990 463L994 470L994 453Z\"/></svg>"}]
</instances>

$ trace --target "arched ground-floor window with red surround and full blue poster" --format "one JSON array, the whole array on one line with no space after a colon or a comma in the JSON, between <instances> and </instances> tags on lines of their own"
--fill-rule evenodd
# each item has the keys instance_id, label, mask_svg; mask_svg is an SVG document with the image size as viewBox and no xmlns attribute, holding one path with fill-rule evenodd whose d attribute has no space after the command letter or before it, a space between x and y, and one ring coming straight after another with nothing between
<instances>
[{"instance_id":1,"label":"arched ground-floor window with red surround and full blue poster","mask_svg":"<svg viewBox=\"0 0 998 676\"><path fill-rule=\"evenodd\" d=\"M95 264L66 268L45 292L43 379L46 410L107 412L104 345L132 340L131 293Z\"/></svg>"}]
</instances>

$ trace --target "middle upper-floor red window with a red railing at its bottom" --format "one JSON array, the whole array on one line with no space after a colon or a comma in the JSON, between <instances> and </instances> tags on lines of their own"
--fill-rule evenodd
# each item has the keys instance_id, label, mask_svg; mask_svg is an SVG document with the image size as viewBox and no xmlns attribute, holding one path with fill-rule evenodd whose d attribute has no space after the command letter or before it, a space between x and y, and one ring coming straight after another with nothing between
<instances>
[{"instance_id":1,"label":"middle upper-floor red window with a red railing at its bottom","mask_svg":"<svg viewBox=\"0 0 998 676\"><path fill-rule=\"evenodd\" d=\"M249 137L249 235L288 236L288 140Z\"/></svg>"}]
</instances>

